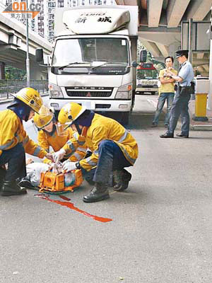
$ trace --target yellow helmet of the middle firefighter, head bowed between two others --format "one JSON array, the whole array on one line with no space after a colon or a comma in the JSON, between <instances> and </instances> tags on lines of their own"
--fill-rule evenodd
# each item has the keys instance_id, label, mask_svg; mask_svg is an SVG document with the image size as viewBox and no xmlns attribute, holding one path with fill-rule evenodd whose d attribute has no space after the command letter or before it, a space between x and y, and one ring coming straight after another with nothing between
<instances>
[{"instance_id":1,"label":"yellow helmet of the middle firefighter, head bowed between two others","mask_svg":"<svg viewBox=\"0 0 212 283\"><path fill-rule=\"evenodd\" d=\"M47 108L47 106L42 105L38 114L36 113L33 117L33 122L37 129L42 129L49 125L54 118L54 109Z\"/></svg>"}]
</instances>

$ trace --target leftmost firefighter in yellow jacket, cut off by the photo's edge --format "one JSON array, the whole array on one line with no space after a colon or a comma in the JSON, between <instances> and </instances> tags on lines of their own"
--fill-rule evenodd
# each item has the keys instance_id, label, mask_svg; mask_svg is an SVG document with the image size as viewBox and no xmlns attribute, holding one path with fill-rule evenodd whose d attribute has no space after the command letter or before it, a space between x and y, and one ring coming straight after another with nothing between
<instances>
[{"instance_id":1,"label":"leftmost firefighter in yellow jacket, cut off by the photo's edge","mask_svg":"<svg viewBox=\"0 0 212 283\"><path fill-rule=\"evenodd\" d=\"M18 179L25 177L25 152L39 158L50 158L45 149L28 137L23 129L27 122L40 110L42 98L33 88L23 88L14 94L6 110L0 112L0 166L1 195L23 195L27 191L18 185ZM4 171L2 166L8 163Z\"/></svg>"}]
</instances>

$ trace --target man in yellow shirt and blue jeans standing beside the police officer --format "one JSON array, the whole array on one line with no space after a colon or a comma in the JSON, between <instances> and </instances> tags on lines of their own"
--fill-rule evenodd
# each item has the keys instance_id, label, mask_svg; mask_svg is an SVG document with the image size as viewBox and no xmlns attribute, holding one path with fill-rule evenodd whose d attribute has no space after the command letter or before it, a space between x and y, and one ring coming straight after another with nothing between
<instances>
[{"instance_id":1,"label":"man in yellow shirt and blue jeans standing beside the police officer","mask_svg":"<svg viewBox=\"0 0 212 283\"><path fill-rule=\"evenodd\" d=\"M167 113L165 115L165 127L168 127L169 120L170 120L170 110L172 108L172 102L175 96L175 80L171 79L167 76L167 71L172 71L177 75L177 71L173 69L173 57L166 57L165 58L165 69L160 70L159 79L161 86L159 88L159 98L158 98L158 105L155 111L155 116L153 117L153 125L152 127L158 127L159 116L163 110L163 106L165 104L165 100L167 101Z\"/></svg>"}]
</instances>

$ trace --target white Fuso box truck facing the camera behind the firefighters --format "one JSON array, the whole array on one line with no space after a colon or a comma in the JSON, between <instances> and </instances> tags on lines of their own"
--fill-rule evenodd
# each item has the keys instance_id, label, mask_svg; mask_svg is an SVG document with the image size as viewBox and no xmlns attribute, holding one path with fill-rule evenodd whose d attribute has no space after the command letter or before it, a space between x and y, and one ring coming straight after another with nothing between
<instances>
[{"instance_id":1,"label":"white Fuso box truck facing the camera behind the firefighters","mask_svg":"<svg viewBox=\"0 0 212 283\"><path fill-rule=\"evenodd\" d=\"M137 34L137 6L57 8L50 106L59 112L73 101L108 116L116 113L128 124L136 91ZM36 57L41 61L42 50Z\"/></svg>"}]
</instances>

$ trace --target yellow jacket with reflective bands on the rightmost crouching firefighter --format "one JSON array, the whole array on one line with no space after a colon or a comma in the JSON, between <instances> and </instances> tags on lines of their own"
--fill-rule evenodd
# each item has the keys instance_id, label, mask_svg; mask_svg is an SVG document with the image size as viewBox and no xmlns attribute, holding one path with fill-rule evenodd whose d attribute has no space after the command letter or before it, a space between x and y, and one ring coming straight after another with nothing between
<instances>
[{"instance_id":1,"label":"yellow jacket with reflective bands on the rightmost crouching firefighter","mask_svg":"<svg viewBox=\"0 0 212 283\"><path fill-rule=\"evenodd\" d=\"M100 141L104 139L110 139L114 141L122 150L126 159L134 165L136 158L139 154L138 144L134 137L117 121L104 117L99 114L95 114L90 127L85 136L79 136L78 143L86 143L90 151L93 154L80 161L80 165L90 171L91 168L97 166L98 163L98 145ZM76 148L77 143L68 141L63 147L66 153L69 153L71 149Z\"/></svg>"}]
</instances>

